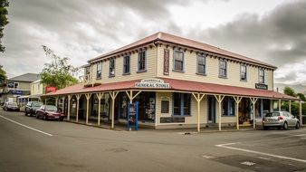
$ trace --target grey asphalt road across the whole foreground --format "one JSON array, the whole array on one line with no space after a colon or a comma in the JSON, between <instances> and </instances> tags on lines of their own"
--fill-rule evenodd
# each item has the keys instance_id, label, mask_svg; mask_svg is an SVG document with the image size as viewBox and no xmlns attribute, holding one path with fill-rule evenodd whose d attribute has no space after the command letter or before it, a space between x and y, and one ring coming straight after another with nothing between
<instances>
[{"instance_id":1,"label":"grey asphalt road across the whole foreground","mask_svg":"<svg viewBox=\"0 0 306 172\"><path fill-rule=\"evenodd\" d=\"M2 171L306 171L306 129L117 131L0 110Z\"/></svg>"}]
</instances>

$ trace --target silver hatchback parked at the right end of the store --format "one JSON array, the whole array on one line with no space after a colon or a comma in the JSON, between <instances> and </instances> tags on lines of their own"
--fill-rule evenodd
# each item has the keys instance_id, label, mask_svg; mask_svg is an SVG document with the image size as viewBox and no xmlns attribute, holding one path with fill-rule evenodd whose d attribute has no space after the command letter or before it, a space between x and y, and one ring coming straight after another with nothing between
<instances>
[{"instance_id":1,"label":"silver hatchback parked at the right end of the store","mask_svg":"<svg viewBox=\"0 0 306 172\"><path fill-rule=\"evenodd\" d=\"M288 129L289 127L300 129L300 120L288 111L268 112L263 118L263 129L269 128Z\"/></svg>"}]
</instances>

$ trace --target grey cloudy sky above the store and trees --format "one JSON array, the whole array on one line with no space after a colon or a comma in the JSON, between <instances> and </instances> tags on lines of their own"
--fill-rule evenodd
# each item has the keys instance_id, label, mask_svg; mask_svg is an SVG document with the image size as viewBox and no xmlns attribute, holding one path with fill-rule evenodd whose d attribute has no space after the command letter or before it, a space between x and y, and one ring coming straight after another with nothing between
<instances>
[{"instance_id":1,"label":"grey cloudy sky above the store and trees","mask_svg":"<svg viewBox=\"0 0 306 172\"><path fill-rule=\"evenodd\" d=\"M278 66L276 82L306 84L306 1L10 0L0 64L41 72L42 49L74 66L159 31Z\"/></svg>"}]
</instances>

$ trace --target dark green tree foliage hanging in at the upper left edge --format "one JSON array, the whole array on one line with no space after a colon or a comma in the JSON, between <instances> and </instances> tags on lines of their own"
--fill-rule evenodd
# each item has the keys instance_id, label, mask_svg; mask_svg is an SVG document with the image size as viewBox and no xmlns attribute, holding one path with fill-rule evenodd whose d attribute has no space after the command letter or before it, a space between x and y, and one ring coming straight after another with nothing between
<instances>
[{"instance_id":1,"label":"dark green tree foliage hanging in at the upper left edge","mask_svg":"<svg viewBox=\"0 0 306 172\"><path fill-rule=\"evenodd\" d=\"M5 46L2 45L1 39L4 36L5 25L8 24L6 7L9 5L7 0L0 0L0 52L5 52Z\"/></svg>"}]
</instances>

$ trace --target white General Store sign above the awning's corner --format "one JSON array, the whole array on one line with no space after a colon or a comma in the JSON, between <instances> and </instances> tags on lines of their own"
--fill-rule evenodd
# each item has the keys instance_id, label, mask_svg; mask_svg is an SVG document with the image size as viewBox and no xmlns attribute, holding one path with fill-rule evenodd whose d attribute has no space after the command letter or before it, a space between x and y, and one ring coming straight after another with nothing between
<instances>
[{"instance_id":1,"label":"white General Store sign above the awning's corner","mask_svg":"<svg viewBox=\"0 0 306 172\"><path fill-rule=\"evenodd\" d=\"M135 88L170 89L170 84L160 79L144 79L135 82Z\"/></svg>"}]
</instances>

